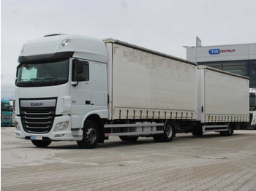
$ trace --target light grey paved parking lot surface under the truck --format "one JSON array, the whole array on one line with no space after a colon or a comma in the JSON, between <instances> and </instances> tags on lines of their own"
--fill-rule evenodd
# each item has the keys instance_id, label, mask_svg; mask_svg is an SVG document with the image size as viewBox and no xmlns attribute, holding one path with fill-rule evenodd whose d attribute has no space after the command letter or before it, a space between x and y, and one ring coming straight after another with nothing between
<instances>
[{"instance_id":1,"label":"light grey paved parking lot surface under the truck","mask_svg":"<svg viewBox=\"0 0 256 191\"><path fill-rule=\"evenodd\" d=\"M1 128L1 190L256 190L256 130L40 149Z\"/></svg>"}]
</instances>

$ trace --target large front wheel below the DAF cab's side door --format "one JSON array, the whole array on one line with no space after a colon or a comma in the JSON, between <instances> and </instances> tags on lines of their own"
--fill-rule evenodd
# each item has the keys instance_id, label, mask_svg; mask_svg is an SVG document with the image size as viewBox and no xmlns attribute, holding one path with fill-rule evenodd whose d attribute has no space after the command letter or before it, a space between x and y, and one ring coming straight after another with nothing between
<instances>
[{"instance_id":1,"label":"large front wheel below the DAF cab's side door","mask_svg":"<svg viewBox=\"0 0 256 191\"><path fill-rule=\"evenodd\" d=\"M82 149L94 149L99 142L99 127L96 122L86 120L83 125L83 139L77 141L78 147Z\"/></svg>"}]
</instances>

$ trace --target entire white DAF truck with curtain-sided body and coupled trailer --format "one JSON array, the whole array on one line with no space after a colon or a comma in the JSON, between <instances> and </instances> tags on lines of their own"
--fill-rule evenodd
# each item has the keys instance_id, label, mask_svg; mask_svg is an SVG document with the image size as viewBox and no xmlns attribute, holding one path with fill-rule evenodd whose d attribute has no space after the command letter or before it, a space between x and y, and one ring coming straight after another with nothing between
<instances>
[{"instance_id":1,"label":"entire white DAF truck with curtain-sided body and coupled trailer","mask_svg":"<svg viewBox=\"0 0 256 191\"><path fill-rule=\"evenodd\" d=\"M115 39L52 34L18 58L15 136L37 147L109 136L230 136L249 122L249 79Z\"/></svg>"}]
</instances>

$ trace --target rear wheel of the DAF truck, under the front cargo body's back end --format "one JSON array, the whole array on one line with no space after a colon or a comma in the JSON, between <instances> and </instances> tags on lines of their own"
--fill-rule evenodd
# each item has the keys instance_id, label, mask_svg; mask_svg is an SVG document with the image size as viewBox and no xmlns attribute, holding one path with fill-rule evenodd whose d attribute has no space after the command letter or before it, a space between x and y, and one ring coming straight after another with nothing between
<instances>
[{"instance_id":1,"label":"rear wheel of the DAF truck, under the front cargo body's back end","mask_svg":"<svg viewBox=\"0 0 256 191\"><path fill-rule=\"evenodd\" d=\"M173 141L173 137L175 136L175 127L173 122L167 120L165 122L165 131L163 134L154 135L153 139L156 142L170 142Z\"/></svg>"}]
</instances>

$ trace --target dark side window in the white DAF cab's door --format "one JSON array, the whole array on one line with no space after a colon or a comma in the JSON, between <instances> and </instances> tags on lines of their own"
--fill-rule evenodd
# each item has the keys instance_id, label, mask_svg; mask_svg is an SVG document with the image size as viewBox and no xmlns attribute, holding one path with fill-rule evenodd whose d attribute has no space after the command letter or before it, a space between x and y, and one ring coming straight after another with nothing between
<instances>
[{"instance_id":1,"label":"dark side window in the white DAF cab's door","mask_svg":"<svg viewBox=\"0 0 256 191\"><path fill-rule=\"evenodd\" d=\"M78 65L82 65L82 69L79 69ZM72 81L89 81L89 62L74 60L72 63Z\"/></svg>"}]
</instances>

